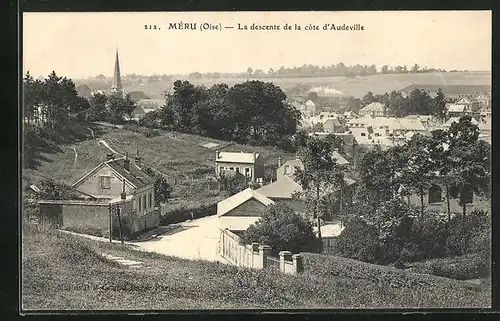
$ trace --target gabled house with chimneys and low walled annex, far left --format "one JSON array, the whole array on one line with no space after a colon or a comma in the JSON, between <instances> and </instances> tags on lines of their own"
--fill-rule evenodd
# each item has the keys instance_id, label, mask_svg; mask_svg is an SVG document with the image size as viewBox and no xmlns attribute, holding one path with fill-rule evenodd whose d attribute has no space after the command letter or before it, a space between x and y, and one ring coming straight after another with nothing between
<instances>
[{"instance_id":1,"label":"gabled house with chimneys and low walled annex, far left","mask_svg":"<svg viewBox=\"0 0 500 321\"><path fill-rule=\"evenodd\" d=\"M111 226L120 224L133 234L157 227L154 180L141 166L139 153L134 161L128 155L115 158L108 153L105 161L72 185L77 200L39 200L40 217L61 228L108 235Z\"/></svg>"}]
</instances>

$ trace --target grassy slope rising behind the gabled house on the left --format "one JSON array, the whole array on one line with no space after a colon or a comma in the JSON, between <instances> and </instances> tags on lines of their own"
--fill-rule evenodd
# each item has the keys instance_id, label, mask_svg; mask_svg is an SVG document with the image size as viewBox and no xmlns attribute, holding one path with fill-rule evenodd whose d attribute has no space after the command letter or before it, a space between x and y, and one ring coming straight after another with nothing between
<instances>
[{"instance_id":1,"label":"grassy slope rising behind the gabled house on the left","mask_svg":"<svg viewBox=\"0 0 500 321\"><path fill-rule=\"evenodd\" d=\"M162 132L160 136L147 138L143 134L124 129L103 127L99 131L97 138L105 140L117 152L123 154L128 152L132 157L139 150L145 164L166 174L172 183L175 178L177 181L174 186L175 196L199 198L201 195L205 198L214 198L217 195L214 189L207 190L208 182L204 179L204 175L197 174L195 170L203 169L208 174L214 172L213 161L209 158L215 157L215 149L205 148L201 146L202 144L215 142L220 146L227 146L229 142L174 132ZM44 177L52 177L67 184L74 183L102 162L109 151L92 138L90 131L88 135L87 140L74 145L60 145L60 152L44 153L40 166L36 169L23 170L24 183L37 184ZM78 153L76 162L73 147ZM283 155L285 160L292 157L274 148L238 144L224 150L244 152L255 150L263 155L267 165L276 164L279 155Z\"/></svg>"}]
</instances>

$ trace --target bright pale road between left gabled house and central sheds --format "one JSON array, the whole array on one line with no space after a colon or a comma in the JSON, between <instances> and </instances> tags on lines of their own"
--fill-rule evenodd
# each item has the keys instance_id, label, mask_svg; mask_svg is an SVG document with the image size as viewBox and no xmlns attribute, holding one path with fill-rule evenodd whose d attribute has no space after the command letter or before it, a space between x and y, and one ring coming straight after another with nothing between
<instances>
[{"instance_id":1,"label":"bright pale road between left gabled house and central sheds","mask_svg":"<svg viewBox=\"0 0 500 321\"><path fill-rule=\"evenodd\" d=\"M216 216L183 222L179 226L155 239L137 242L135 245L148 252L227 263L217 254L220 232Z\"/></svg>"}]
</instances>

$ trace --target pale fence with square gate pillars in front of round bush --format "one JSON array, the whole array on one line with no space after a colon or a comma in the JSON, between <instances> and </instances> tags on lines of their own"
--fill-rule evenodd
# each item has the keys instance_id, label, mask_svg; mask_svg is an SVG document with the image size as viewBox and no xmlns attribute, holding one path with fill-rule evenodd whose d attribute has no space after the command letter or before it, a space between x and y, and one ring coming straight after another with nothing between
<instances>
[{"instance_id":1,"label":"pale fence with square gate pillars in front of round bush","mask_svg":"<svg viewBox=\"0 0 500 321\"><path fill-rule=\"evenodd\" d=\"M302 272L302 257L300 254L292 255L289 251L281 251L279 260L271 256L269 245L244 245L238 235L228 229L220 233L220 254L231 264L254 269L277 267L281 272L287 274L298 274Z\"/></svg>"}]
</instances>

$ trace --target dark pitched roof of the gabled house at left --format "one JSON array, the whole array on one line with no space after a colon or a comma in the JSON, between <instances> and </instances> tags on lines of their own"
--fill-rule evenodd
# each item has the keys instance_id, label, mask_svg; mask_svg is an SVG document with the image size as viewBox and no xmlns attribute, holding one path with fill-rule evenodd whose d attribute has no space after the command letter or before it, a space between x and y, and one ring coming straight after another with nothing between
<instances>
[{"instance_id":1,"label":"dark pitched roof of the gabled house at left","mask_svg":"<svg viewBox=\"0 0 500 321\"><path fill-rule=\"evenodd\" d=\"M82 178L80 178L76 183L72 185L73 188L77 187L82 183L87 177L89 177L92 173L96 172L103 166L107 166L111 168L117 176L121 179L125 179L130 185L134 188L140 188L149 184L154 184L153 178L151 178L146 172L144 172L140 167L138 167L133 161L130 161L130 171L125 170L123 167L125 161L125 157L108 160L102 162L92 169L90 172L85 174Z\"/></svg>"}]
</instances>

